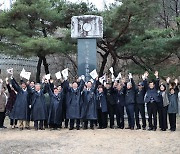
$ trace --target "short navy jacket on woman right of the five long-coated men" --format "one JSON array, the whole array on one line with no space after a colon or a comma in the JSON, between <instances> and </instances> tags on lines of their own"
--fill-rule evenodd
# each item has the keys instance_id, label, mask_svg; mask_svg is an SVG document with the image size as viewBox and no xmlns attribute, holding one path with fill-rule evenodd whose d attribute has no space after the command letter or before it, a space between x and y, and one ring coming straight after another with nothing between
<instances>
[{"instance_id":1,"label":"short navy jacket on woman right of the five long-coated men","mask_svg":"<svg viewBox=\"0 0 180 154\"><path fill-rule=\"evenodd\" d=\"M104 93L97 92L96 96L97 109L101 109L102 112L107 112L107 102Z\"/></svg>"}]
</instances>

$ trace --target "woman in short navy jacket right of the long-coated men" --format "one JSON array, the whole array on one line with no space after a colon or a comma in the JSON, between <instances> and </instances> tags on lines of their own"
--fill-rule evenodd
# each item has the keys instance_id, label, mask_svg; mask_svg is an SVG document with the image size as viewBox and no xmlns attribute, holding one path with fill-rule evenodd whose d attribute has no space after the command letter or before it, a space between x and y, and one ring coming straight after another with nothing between
<instances>
[{"instance_id":1,"label":"woman in short navy jacket right of the long-coated men","mask_svg":"<svg viewBox=\"0 0 180 154\"><path fill-rule=\"evenodd\" d=\"M107 128L107 102L102 85L98 86L96 103L99 129Z\"/></svg>"}]
</instances>

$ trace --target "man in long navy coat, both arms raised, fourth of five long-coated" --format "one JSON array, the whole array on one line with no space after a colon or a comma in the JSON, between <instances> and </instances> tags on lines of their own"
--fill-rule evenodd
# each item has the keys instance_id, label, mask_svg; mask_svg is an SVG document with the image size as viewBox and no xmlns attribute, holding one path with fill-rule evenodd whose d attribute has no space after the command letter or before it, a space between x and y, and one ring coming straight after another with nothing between
<instances>
[{"instance_id":1,"label":"man in long navy coat, both arms raised, fourth of five long-coated","mask_svg":"<svg viewBox=\"0 0 180 154\"><path fill-rule=\"evenodd\" d=\"M72 87L69 86L69 82L64 81L63 89L66 91L66 118L70 119L69 130L74 129L74 122L76 120L76 129L80 129L80 118L81 118L81 92L84 88L83 79L80 80L78 86L77 82L73 82Z\"/></svg>"}]
</instances>

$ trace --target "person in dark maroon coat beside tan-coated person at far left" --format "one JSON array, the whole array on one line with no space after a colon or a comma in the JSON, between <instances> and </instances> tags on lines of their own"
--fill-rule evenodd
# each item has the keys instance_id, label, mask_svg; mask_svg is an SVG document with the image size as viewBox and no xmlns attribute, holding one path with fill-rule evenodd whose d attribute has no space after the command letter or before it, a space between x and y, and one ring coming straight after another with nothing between
<instances>
[{"instance_id":1,"label":"person in dark maroon coat beside tan-coated person at far left","mask_svg":"<svg viewBox=\"0 0 180 154\"><path fill-rule=\"evenodd\" d=\"M7 101L7 105L6 105L6 113L10 118L10 125L11 128L17 128L17 119L11 119L10 115L12 112L12 109L14 107L15 101L16 101L16 92L14 90L14 88L12 86L10 86L9 82L8 82L8 78L6 78L6 87L8 89L9 92L9 97L8 97L8 101Z\"/></svg>"}]
</instances>

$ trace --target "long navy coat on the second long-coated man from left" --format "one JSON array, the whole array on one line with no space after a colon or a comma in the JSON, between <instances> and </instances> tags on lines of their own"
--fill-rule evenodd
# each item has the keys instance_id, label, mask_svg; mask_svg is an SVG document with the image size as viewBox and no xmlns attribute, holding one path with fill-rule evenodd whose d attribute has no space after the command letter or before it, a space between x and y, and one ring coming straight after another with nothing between
<instances>
[{"instance_id":1,"label":"long navy coat on the second long-coated man from left","mask_svg":"<svg viewBox=\"0 0 180 154\"><path fill-rule=\"evenodd\" d=\"M29 87L30 88L30 87ZM31 89L32 104L31 104L31 120L47 120L47 109L45 104L45 90L42 89L39 92Z\"/></svg>"}]
</instances>

